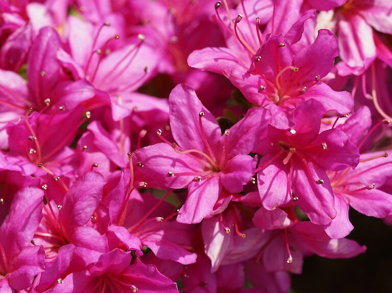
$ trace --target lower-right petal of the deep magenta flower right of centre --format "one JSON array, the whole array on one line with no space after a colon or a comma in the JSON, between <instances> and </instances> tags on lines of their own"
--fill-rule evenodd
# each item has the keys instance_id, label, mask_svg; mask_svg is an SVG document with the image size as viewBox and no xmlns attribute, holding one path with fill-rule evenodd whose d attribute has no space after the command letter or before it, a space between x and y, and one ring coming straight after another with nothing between
<instances>
[{"instance_id":1,"label":"lower-right petal of the deep magenta flower right of centre","mask_svg":"<svg viewBox=\"0 0 392 293\"><path fill-rule=\"evenodd\" d=\"M295 162L292 175L292 190L298 197L298 206L317 225L327 225L336 216L334 197L331 183L324 169L308 162L311 172L307 174L305 167ZM316 184L315 180L324 180L323 184Z\"/></svg>"}]
</instances>

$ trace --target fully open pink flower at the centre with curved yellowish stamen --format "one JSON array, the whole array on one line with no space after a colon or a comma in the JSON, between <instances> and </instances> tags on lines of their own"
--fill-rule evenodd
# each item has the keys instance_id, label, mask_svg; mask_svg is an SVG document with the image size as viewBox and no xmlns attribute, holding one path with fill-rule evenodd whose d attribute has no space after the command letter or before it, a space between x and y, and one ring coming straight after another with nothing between
<instances>
[{"instance_id":1,"label":"fully open pink flower at the centre with curved yellowish stamen","mask_svg":"<svg viewBox=\"0 0 392 293\"><path fill-rule=\"evenodd\" d=\"M169 107L170 127L177 143L151 145L135 155L152 184L188 187L188 198L177 221L199 223L211 215L223 187L240 192L252 178L256 161L248 154L255 147L256 137L265 135L269 111L251 109L221 135L215 117L187 85L175 87ZM257 133L254 126L261 126ZM162 137L161 130L158 135Z\"/></svg>"}]
</instances>

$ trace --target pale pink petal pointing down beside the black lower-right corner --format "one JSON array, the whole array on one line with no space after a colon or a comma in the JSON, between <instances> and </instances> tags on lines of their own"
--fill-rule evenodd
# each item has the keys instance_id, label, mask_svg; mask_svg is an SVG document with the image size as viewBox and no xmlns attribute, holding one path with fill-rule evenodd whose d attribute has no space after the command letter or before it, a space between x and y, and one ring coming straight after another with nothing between
<instances>
[{"instance_id":1,"label":"pale pink petal pointing down beside the black lower-right corner","mask_svg":"<svg viewBox=\"0 0 392 293\"><path fill-rule=\"evenodd\" d=\"M349 204L344 198L335 196L336 217L324 226L325 232L331 238L344 238L354 229L349 219Z\"/></svg>"}]
</instances>

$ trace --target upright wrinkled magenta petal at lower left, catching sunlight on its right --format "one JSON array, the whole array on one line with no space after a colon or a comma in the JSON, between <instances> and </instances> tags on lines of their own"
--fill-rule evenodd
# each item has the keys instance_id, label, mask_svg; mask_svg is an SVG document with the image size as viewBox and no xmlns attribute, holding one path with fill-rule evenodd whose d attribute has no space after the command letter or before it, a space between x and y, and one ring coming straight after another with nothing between
<instances>
[{"instance_id":1,"label":"upright wrinkled magenta petal at lower left, catching sunlight on its right","mask_svg":"<svg viewBox=\"0 0 392 293\"><path fill-rule=\"evenodd\" d=\"M69 188L61 209L61 218L67 233L84 226L91 219L102 199L104 178L97 172L88 172Z\"/></svg>"}]
</instances>

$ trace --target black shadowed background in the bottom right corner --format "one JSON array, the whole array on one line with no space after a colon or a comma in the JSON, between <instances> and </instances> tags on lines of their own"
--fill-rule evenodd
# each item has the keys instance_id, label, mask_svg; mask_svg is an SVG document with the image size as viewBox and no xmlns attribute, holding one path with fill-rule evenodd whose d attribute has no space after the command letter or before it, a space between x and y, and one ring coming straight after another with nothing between
<instances>
[{"instance_id":1,"label":"black shadowed background in the bottom right corner","mask_svg":"<svg viewBox=\"0 0 392 293\"><path fill-rule=\"evenodd\" d=\"M350 220L354 230L348 238L366 252L352 259L305 258L303 274L292 275L290 293L392 292L392 227L353 209Z\"/></svg>"}]
</instances>

